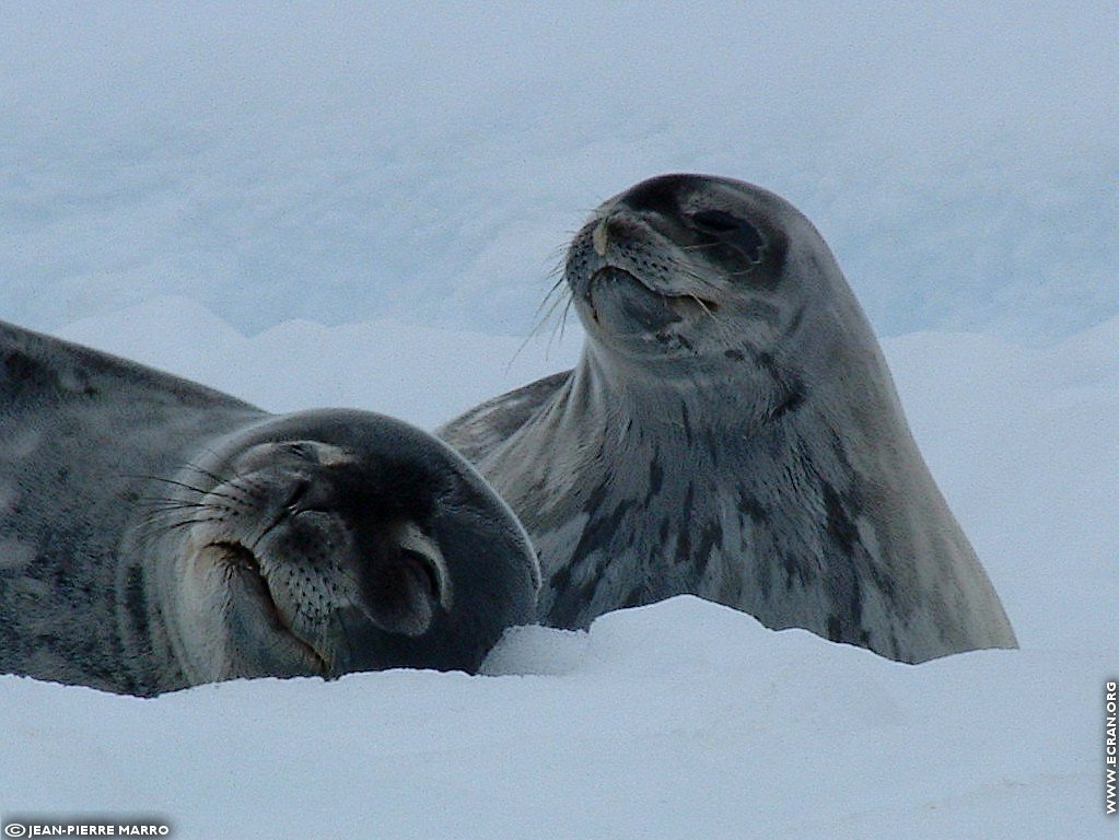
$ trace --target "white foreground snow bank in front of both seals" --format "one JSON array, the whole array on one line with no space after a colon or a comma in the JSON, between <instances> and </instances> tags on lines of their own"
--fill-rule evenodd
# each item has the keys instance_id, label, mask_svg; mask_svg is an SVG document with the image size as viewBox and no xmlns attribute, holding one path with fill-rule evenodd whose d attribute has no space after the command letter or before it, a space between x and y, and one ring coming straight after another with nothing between
<instances>
[{"instance_id":1,"label":"white foreground snow bank in front of both seals","mask_svg":"<svg viewBox=\"0 0 1119 840\"><path fill-rule=\"evenodd\" d=\"M166 815L177 837L1103 825L1089 761L1100 655L988 651L914 668L690 597L589 634L526 629L499 653L506 676L262 680L157 700L7 678L3 737L21 749L6 797L25 812Z\"/></svg>"}]
</instances>

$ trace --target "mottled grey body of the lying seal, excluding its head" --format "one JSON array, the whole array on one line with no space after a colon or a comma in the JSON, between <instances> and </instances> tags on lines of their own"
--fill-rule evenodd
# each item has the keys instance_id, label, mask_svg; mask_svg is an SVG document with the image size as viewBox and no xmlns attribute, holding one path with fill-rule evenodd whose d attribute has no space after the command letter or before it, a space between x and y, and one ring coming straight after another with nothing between
<instances>
[{"instance_id":1,"label":"mottled grey body of the lying seal, excluding its head","mask_svg":"<svg viewBox=\"0 0 1119 840\"><path fill-rule=\"evenodd\" d=\"M147 481L263 412L0 322L0 672L122 685L115 555ZM62 608L60 605L66 605Z\"/></svg>"}]
</instances>

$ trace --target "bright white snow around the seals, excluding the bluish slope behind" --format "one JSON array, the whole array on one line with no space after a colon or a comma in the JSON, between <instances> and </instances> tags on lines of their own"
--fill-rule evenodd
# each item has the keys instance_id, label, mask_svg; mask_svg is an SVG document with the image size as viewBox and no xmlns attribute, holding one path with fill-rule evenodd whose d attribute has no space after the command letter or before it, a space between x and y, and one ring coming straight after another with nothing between
<instances>
[{"instance_id":1,"label":"bright white snow around the seals, excluding the bluish slope behind","mask_svg":"<svg viewBox=\"0 0 1119 840\"><path fill-rule=\"evenodd\" d=\"M62 333L272 410L426 426L565 367L580 339L385 322L246 338L184 300ZM0 814L154 813L189 838L1103 837L1119 318L1044 350L949 333L885 350L1023 650L904 666L683 597L589 633L516 631L481 677L154 700L4 677Z\"/></svg>"}]
</instances>

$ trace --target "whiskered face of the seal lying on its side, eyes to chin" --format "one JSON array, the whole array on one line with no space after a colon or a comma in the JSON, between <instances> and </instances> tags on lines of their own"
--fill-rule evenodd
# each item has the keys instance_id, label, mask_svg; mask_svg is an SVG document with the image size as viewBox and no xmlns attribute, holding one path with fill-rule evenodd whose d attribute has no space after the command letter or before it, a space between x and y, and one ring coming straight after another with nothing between
<instances>
[{"instance_id":1,"label":"whiskered face of the seal lying on its side, eyes to chin","mask_svg":"<svg viewBox=\"0 0 1119 840\"><path fill-rule=\"evenodd\" d=\"M392 471L370 473L322 442L281 441L223 472L189 468L176 487L198 495L171 510L192 511L181 523L203 560L198 586L226 616L241 670L336 674L355 646L421 636L452 610L449 564L422 506L392 490Z\"/></svg>"}]
</instances>

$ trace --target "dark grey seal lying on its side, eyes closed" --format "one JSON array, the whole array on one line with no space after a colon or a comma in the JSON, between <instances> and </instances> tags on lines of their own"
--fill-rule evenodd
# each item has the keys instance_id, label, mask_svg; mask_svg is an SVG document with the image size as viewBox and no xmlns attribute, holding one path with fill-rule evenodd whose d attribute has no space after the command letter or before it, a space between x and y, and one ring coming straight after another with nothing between
<instances>
[{"instance_id":1,"label":"dark grey seal lying on its side, eyes closed","mask_svg":"<svg viewBox=\"0 0 1119 840\"><path fill-rule=\"evenodd\" d=\"M514 513L420 430L0 323L0 672L151 696L474 671L538 587Z\"/></svg>"}]
</instances>

